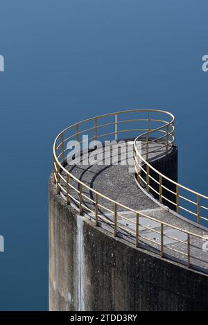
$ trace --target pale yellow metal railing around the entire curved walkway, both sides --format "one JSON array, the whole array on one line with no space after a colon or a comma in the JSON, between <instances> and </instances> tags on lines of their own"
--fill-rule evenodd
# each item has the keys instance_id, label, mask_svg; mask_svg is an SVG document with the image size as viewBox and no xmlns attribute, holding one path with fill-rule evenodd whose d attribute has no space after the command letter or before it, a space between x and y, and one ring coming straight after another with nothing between
<instances>
[{"instance_id":1,"label":"pale yellow metal railing around the entire curved walkway, both sides","mask_svg":"<svg viewBox=\"0 0 208 325\"><path fill-rule=\"evenodd\" d=\"M130 117L125 118L125 116ZM171 151L171 148L173 148L174 120L175 118L172 114L161 110L133 109L95 116L94 118L88 118L87 120L69 126L69 128L64 129L58 134L53 145L53 181L57 186L57 193L65 198L67 204L71 204L78 209L80 215L88 214L97 227L101 225L101 222L105 222L112 229L114 236L119 236L121 232L128 234L131 240L134 240L137 247L141 246L145 249L153 249L154 252L157 252L163 258L177 258L177 261L186 264L188 267L196 267L198 263L202 263L202 268L207 269L208 261L205 261L203 256L201 257L201 254L203 254L202 242L204 236L180 227L175 227L171 223L163 222L162 220L148 216L146 213L131 209L116 200L112 200L110 197L103 195L85 184L85 182L82 182L66 167L67 152L69 150L67 148L68 141L76 140L79 141L78 143L82 143L83 141L81 141L80 137L83 134L89 134L89 140L101 139L103 141L106 138L118 140L119 135L122 134L123 136L123 134L126 134L128 139L132 137L135 139L135 170L141 183L146 184L146 190L157 191L151 186L151 182L155 182L159 186L159 191L157 192L159 201L163 202L163 200L168 200L168 197L164 196L164 189L171 191L168 187L164 187L164 179L174 184L176 186L176 192L172 191L172 194L175 195L176 202L173 200L171 204L176 204L177 211L182 209L179 200L184 198L180 195L179 189L184 188L188 193L193 193L197 197L196 216L199 222L200 218L202 218L200 216L200 209L205 208L200 205L199 198L204 197L207 199L207 197L191 191L189 188L177 184L177 182L173 182L162 173L159 173L150 163L151 155L155 155L155 153L157 155L157 152L161 153L161 150L163 151L163 155L167 155ZM123 128L123 125L126 128ZM103 129L107 132L102 132ZM140 135L138 137L139 132ZM156 137L156 134L159 134L159 137ZM139 152L137 146L139 139L141 140L140 146L146 148L143 153ZM159 143L159 147L151 147L151 144L154 145L155 143ZM151 171L156 173L159 180L153 177ZM87 195L88 192L90 195ZM187 200L189 199L187 198ZM191 203L195 204L195 202ZM111 218L108 218L103 211L106 211ZM126 218L124 213L126 211L134 217L131 218L131 229L125 226L125 222L121 222L121 220L130 221L129 218ZM154 229L154 233L157 234L158 238L150 238L147 236L146 233L153 231L153 229L149 225L144 225L144 222L142 222L144 218L150 222L157 222L158 227ZM172 232L170 233L170 231ZM167 238L174 241L176 246L166 245L165 239Z\"/></svg>"}]
</instances>

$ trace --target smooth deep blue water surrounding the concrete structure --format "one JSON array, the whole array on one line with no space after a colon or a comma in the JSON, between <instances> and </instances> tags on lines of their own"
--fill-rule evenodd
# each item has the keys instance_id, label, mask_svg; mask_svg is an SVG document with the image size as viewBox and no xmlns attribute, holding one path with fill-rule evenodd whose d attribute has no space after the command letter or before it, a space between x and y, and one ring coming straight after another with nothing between
<instances>
[{"instance_id":1,"label":"smooth deep blue water surrounding the concrete structure","mask_svg":"<svg viewBox=\"0 0 208 325\"><path fill-rule=\"evenodd\" d=\"M173 112L180 181L207 192L207 9L207 0L0 1L1 310L48 308L47 184L53 139L70 123L130 107Z\"/></svg>"}]
</instances>

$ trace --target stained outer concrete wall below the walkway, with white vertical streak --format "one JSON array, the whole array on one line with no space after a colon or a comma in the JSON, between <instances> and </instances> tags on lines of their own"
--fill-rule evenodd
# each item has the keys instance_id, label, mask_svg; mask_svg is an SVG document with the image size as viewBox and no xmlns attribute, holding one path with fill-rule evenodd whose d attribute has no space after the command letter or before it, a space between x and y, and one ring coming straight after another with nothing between
<instances>
[{"instance_id":1,"label":"stained outer concrete wall below the walkway, with white vertical streak","mask_svg":"<svg viewBox=\"0 0 208 325\"><path fill-rule=\"evenodd\" d=\"M49 186L50 310L208 310L208 276L135 248Z\"/></svg>"}]
</instances>

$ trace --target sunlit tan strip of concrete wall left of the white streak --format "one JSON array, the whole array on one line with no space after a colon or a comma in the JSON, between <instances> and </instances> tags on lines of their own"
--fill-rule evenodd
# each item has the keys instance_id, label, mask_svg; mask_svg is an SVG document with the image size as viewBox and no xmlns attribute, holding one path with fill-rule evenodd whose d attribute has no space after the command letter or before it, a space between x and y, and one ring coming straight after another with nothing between
<instances>
[{"instance_id":1,"label":"sunlit tan strip of concrete wall left of the white streak","mask_svg":"<svg viewBox=\"0 0 208 325\"><path fill-rule=\"evenodd\" d=\"M77 216L60 195L49 191L49 309L77 310Z\"/></svg>"}]
</instances>

